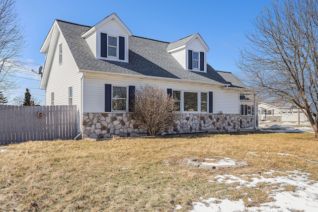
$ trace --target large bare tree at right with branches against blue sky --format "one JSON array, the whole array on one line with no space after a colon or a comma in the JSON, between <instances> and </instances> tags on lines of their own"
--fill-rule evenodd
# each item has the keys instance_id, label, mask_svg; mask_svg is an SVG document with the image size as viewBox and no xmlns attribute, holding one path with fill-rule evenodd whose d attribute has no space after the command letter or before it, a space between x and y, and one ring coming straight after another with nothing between
<instances>
[{"instance_id":1,"label":"large bare tree at right with branches against blue sky","mask_svg":"<svg viewBox=\"0 0 318 212\"><path fill-rule=\"evenodd\" d=\"M236 65L263 99L305 113L318 138L318 1L272 2L252 24Z\"/></svg>"}]
</instances>

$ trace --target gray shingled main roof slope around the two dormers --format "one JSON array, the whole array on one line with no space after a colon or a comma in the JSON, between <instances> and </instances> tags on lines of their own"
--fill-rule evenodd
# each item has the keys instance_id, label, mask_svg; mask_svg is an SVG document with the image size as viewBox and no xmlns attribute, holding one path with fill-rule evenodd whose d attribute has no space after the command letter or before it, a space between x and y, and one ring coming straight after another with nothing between
<instances>
[{"instance_id":1,"label":"gray shingled main roof slope around the two dormers","mask_svg":"<svg viewBox=\"0 0 318 212\"><path fill-rule=\"evenodd\" d=\"M61 20L57 23L79 69L229 84L210 65L207 73L184 70L166 51L169 43L137 36L129 37L129 63L96 59L81 37L90 27Z\"/></svg>"}]
</instances>

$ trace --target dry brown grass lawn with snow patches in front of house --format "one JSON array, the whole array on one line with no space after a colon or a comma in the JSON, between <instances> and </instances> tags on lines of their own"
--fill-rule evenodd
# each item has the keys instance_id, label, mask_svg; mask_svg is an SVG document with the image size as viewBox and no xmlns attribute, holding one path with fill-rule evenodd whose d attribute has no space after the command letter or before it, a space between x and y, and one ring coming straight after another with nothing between
<instances>
[{"instance_id":1,"label":"dry brown grass lawn with snow patches in front of house","mask_svg":"<svg viewBox=\"0 0 318 212\"><path fill-rule=\"evenodd\" d=\"M318 165L305 160L318 161L318 141L313 137L210 135L13 144L0 153L0 211L152 212L173 211L177 204L183 207L180 211L186 211L200 197L243 199L246 206L257 206L270 201L267 192L271 188L266 184L238 190L236 184L208 181L219 174L239 176L296 168L310 172L310 178L318 180ZM246 154L249 151L260 155ZM195 156L231 157L246 160L250 166L208 171L183 163L184 158ZM253 201L248 202L248 197Z\"/></svg>"}]
</instances>

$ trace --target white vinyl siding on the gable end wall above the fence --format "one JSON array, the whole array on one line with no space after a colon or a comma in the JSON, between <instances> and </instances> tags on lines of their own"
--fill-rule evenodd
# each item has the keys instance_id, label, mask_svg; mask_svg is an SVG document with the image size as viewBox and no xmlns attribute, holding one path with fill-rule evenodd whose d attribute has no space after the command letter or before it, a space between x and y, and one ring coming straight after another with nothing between
<instances>
[{"instance_id":1,"label":"white vinyl siding on the gable end wall above the fence","mask_svg":"<svg viewBox=\"0 0 318 212\"><path fill-rule=\"evenodd\" d=\"M72 57L63 36L59 36L57 44L62 43L63 64L59 65L59 45L55 46L50 77L46 88L45 105L51 105L51 93L54 92L54 105L69 104L69 87L73 87L73 105L80 108L80 78L82 73Z\"/></svg>"}]
</instances>

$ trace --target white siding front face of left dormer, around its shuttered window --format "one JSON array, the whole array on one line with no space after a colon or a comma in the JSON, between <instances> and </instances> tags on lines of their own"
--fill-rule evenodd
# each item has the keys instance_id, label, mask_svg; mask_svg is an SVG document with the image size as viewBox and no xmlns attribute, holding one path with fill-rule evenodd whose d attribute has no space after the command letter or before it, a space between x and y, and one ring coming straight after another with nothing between
<instances>
[{"instance_id":1,"label":"white siding front face of left dormer, around its shuttered window","mask_svg":"<svg viewBox=\"0 0 318 212\"><path fill-rule=\"evenodd\" d=\"M98 59L101 59L100 57L100 33L106 33L107 36L121 36L125 38L125 60L118 60L118 59L112 59L107 58L107 60L114 60L114 61L121 61L121 62L128 62L128 35L126 34L126 31L114 20L110 20L103 24L102 26L98 27L98 30L94 32L95 39L96 39L96 55ZM117 38L118 39L118 38ZM105 59L105 58L102 58Z\"/></svg>"}]
</instances>

